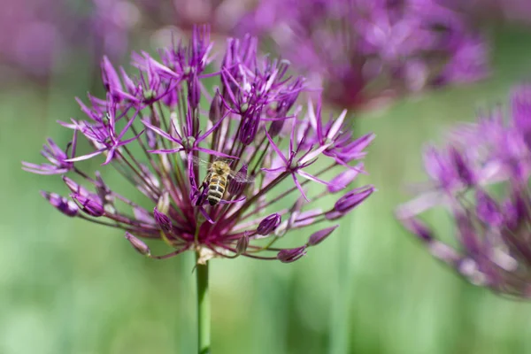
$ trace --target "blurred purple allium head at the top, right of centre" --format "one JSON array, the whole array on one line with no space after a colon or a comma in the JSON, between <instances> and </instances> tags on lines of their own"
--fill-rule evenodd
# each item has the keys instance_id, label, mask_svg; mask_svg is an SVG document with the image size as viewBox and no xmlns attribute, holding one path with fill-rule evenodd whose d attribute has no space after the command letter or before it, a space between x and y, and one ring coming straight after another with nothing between
<instances>
[{"instance_id":1,"label":"blurred purple allium head at the top, right of centre","mask_svg":"<svg viewBox=\"0 0 531 354\"><path fill-rule=\"evenodd\" d=\"M268 0L242 30L273 38L341 107L487 74L481 36L432 0Z\"/></svg>"}]
</instances>

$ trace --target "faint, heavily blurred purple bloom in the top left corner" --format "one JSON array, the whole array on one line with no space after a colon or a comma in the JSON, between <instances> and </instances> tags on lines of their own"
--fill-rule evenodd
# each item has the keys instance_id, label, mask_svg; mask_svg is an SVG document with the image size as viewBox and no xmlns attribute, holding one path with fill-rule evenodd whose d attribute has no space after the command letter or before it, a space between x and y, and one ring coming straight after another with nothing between
<instances>
[{"instance_id":1,"label":"faint, heavily blurred purple bloom in the top left corner","mask_svg":"<svg viewBox=\"0 0 531 354\"><path fill-rule=\"evenodd\" d=\"M93 0L87 7L66 0L4 2L0 11L0 76L49 77L69 64L75 50L90 57L121 58L139 20L134 2ZM4 68L9 69L5 71ZM15 69L14 71L12 69ZM4 76L4 74L6 76Z\"/></svg>"}]
</instances>

